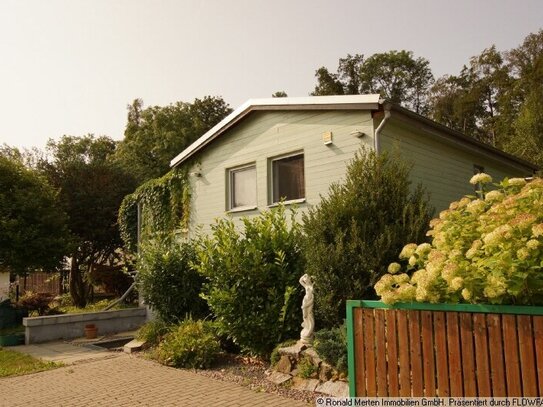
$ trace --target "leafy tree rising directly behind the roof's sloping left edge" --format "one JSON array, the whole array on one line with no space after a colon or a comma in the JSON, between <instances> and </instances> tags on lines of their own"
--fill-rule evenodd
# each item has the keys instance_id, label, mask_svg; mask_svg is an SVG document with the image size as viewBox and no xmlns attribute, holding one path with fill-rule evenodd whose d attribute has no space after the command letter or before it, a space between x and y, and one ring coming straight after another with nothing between
<instances>
[{"instance_id":1,"label":"leafy tree rising directly behind the roof's sloping left edge","mask_svg":"<svg viewBox=\"0 0 543 407\"><path fill-rule=\"evenodd\" d=\"M231 112L220 97L206 96L193 103L143 108L136 99L128 106L125 138L115 160L142 183L170 169L170 161Z\"/></svg>"}]
</instances>

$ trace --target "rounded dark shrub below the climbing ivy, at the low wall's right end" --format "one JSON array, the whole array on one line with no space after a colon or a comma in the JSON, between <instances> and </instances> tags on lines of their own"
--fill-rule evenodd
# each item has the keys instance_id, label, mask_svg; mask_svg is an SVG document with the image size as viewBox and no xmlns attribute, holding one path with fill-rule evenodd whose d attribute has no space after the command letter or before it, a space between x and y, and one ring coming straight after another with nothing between
<instances>
[{"instance_id":1,"label":"rounded dark shrub below the climbing ivy, at the low wall's right end","mask_svg":"<svg viewBox=\"0 0 543 407\"><path fill-rule=\"evenodd\" d=\"M194 259L194 246L174 235L157 234L141 247L138 281L143 297L165 322L208 312L200 298L203 278L191 266Z\"/></svg>"}]
</instances>

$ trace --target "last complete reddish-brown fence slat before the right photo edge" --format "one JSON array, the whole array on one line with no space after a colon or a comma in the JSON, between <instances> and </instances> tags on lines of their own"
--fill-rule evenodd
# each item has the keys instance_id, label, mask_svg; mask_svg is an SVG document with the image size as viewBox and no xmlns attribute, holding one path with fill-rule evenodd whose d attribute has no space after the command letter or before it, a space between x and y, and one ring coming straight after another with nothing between
<instances>
[{"instance_id":1,"label":"last complete reddish-brown fence slat before the right photo edge","mask_svg":"<svg viewBox=\"0 0 543 407\"><path fill-rule=\"evenodd\" d=\"M534 333L532 330L532 317L529 315L517 316L520 369L522 374L522 395L524 397L537 396L537 371L535 366Z\"/></svg>"}]
</instances>

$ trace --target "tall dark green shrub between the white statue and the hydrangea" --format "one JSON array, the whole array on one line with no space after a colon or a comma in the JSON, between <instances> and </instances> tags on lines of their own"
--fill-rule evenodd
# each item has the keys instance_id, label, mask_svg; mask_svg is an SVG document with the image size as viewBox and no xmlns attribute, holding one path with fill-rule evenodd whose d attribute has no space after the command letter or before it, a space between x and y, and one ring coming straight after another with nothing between
<instances>
[{"instance_id":1,"label":"tall dark green shrub between the white statue and the hydrangea","mask_svg":"<svg viewBox=\"0 0 543 407\"><path fill-rule=\"evenodd\" d=\"M317 324L341 323L349 298L375 298L373 285L406 241L421 241L427 194L410 187L410 166L396 155L362 151L345 182L304 215L307 273L315 281Z\"/></svg>"}]
</instances>

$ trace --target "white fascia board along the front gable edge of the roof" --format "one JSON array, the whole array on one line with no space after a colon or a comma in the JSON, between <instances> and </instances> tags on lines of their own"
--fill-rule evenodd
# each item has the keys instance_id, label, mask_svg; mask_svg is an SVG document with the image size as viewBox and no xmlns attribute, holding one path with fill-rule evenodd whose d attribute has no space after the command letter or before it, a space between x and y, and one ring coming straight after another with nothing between
<instances>
[{"instance_id":1,"label":"white fascia board along the front gable edge of the roof","mask_svg":"<svg viewBox=\"0 0 543 407\"><path fill-rule=\"evenodd\" d=\"M249 99L171 160L170 166L175 167L185 161L252 110L348 109L349 106L355 109L360 109L360 106L367 109L378 109L381 103L383 100L378 94Z\"/></svg>"}]
</instances>

